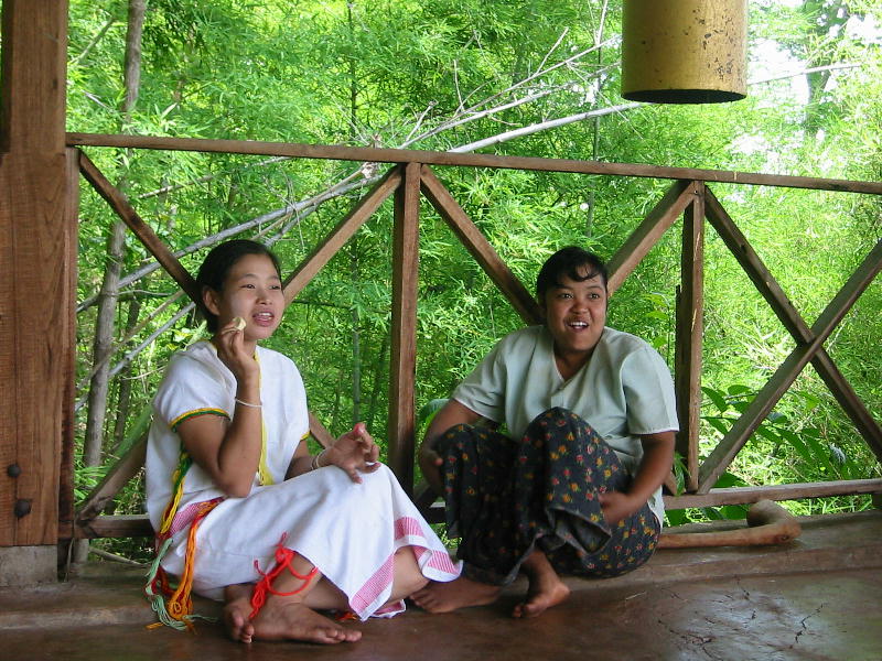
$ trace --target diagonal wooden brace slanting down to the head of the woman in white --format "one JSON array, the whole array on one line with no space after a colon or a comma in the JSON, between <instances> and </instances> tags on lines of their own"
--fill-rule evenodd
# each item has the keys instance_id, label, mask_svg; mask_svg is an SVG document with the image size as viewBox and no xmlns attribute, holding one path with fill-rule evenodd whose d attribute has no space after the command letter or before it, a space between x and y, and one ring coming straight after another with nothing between
<instances>
[{"instance_id":1,"label":"diagonal wooden brace slanting down to the head of the woman in white","mask_svg":"<svg viewBox=\"0 0 882 661\"><path fill-rule=\"evenodd\" d=\"M169 247L164 241L157 236L153 228L144 223L135 210L135 207L129 203L128 197L116 186L114 186L100 170L92 162L92 160L80 152L79 169L83 176L93 185L95 191L104 197L110 205L110 208L122 219L122 221L131 229L135 236L144 245L150 253L157 258L157 261L162 264L162 268L171 275L174 281L181 286L182 290L195 303L202 301L202 294L196 286L196 281L193 277L181 266L178 258L172 254Z\"/></svg>"}]
</instances>

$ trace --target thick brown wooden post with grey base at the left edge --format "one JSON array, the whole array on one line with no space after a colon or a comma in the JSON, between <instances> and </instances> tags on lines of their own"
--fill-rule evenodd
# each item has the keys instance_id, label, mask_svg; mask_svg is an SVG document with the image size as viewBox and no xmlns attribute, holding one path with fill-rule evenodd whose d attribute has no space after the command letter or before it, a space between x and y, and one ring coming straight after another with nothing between
<instances>
[{"instance_id":1,"label":"thick brown wooden post with grey base at the left edge","mask_svg":"<svg viewBox=\"0 0 882 661\"><path fill-rule=\"evenodd\" d=\"M67 2L6 0L2 11L0 585L28 585L56 577L60 457L73 409Z\"/></svg>"}]
</instances>

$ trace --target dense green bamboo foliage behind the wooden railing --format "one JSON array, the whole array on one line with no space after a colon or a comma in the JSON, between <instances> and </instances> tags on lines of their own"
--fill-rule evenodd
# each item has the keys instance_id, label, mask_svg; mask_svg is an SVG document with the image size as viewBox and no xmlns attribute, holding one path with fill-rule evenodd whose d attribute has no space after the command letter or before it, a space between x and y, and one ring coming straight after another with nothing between
<instances>
[{"instance_id":1,"label":"dense green bamboo foliage behind the wooden railing","mask_svg":"<svg viewBox=\"0 0 882 661\"><path fill-rule=\"evenodd\" d=\"M752 0L749 97L714 106L622 100L617 0L148 0L146 8L137 82L123 78L127 2L71 0L68 130L470 151L501 136L480 151L882 178L882 8L875 0ZM606 110L620 105L625 107ZM596 118L542 128L592 110ZM534 129L508 134L527 127ZM240 225L247 227L239 236L272 242L293 268L385 170L237 155L88 153L125 185L173 249L187 251L183 262L191 270L211 242L206 238ZM530 288L538 266L558 247L578 242L612 254L669 185L437 172ZM871 196L712 188L809 324L882 234L881 201ZM326 199L313 201L329 191ZM131 236L118 258L108 258L115 221L84 184L78 438L87 437L88 425L97 427L105 468L142 433L169 355L203 333L184 314L151 336L184 310L185 299L172 297L176 288L161 271L127 279L152 260ZM334 434L354 420L366 420L380 438L386 429L390 227L387 203L291 305L271 340L298 362L311 408ZM428 204L420 241L422 408L447 397L520 322ZM702 454L793 347L712 230L707 253ZM106 400L88 404L95 301L108 264L120 267L123 281L106 307L114 319L107 364L121 368ZM678 279L673 232L616 293L610 311L611 325L647 338L670 360ZM876 419L880 307L876 282L827 343ZM136 351L130 361L127 351ZM94 415L100 407L110 412L104 421ZM97 422L87 420L89 409ZM80 467L78 489L85 491L105 468ZM874 476L872 453L808 368L727 479ZM138 489L136 484L126 491L117 511L139 511ZM795 507L806 513L867 506L867 499L849 498Z\"/></svg>"}]
</instances>

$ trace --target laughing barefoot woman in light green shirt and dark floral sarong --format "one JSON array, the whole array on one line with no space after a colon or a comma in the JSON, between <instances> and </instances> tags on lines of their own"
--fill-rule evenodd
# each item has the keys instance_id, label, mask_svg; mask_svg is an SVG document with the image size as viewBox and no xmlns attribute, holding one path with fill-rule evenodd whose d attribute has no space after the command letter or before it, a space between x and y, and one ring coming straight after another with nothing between
<instances>
[{"instance_id":1,"label":"laughing barefoot woman in light green shirt and dark floral sarong","mask_svg":"<svg viewBox=\"0 0 882 661\"><path fill-rule=\"evenodd\" d=\"M670 372L647 343L605 325L595 254L559 250L536 290L545 324L503 338L420 448L464 561L460 578L413 595L432 613L492 603L524 571L513 615L535 617L569 596L561 573L619 575L656 546L678 430Z\"/></svg>"}]
</instances>

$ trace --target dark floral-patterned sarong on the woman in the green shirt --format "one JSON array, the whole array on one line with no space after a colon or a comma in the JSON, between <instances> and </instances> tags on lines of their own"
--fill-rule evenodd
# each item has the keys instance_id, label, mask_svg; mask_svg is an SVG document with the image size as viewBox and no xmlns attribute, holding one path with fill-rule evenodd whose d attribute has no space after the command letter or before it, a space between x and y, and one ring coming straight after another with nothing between
<instances>
[{"instance_id":1,"label":"dark floral-patterned sarong on the woman in the green shirt","mask_svg":"<svg viewBox=\"0 0 882 661\"><path fill-rule=\"evenodd\" d=\"M460 537L463 575L493 585L517 577L538 548L560 573L607 577L645 563L660 525L644 505L610 527L599 495L631 476L581 418L550 409L520 442L486 427L456 425L438 441L449 534Z\"/></svg>"}]
</instances>

